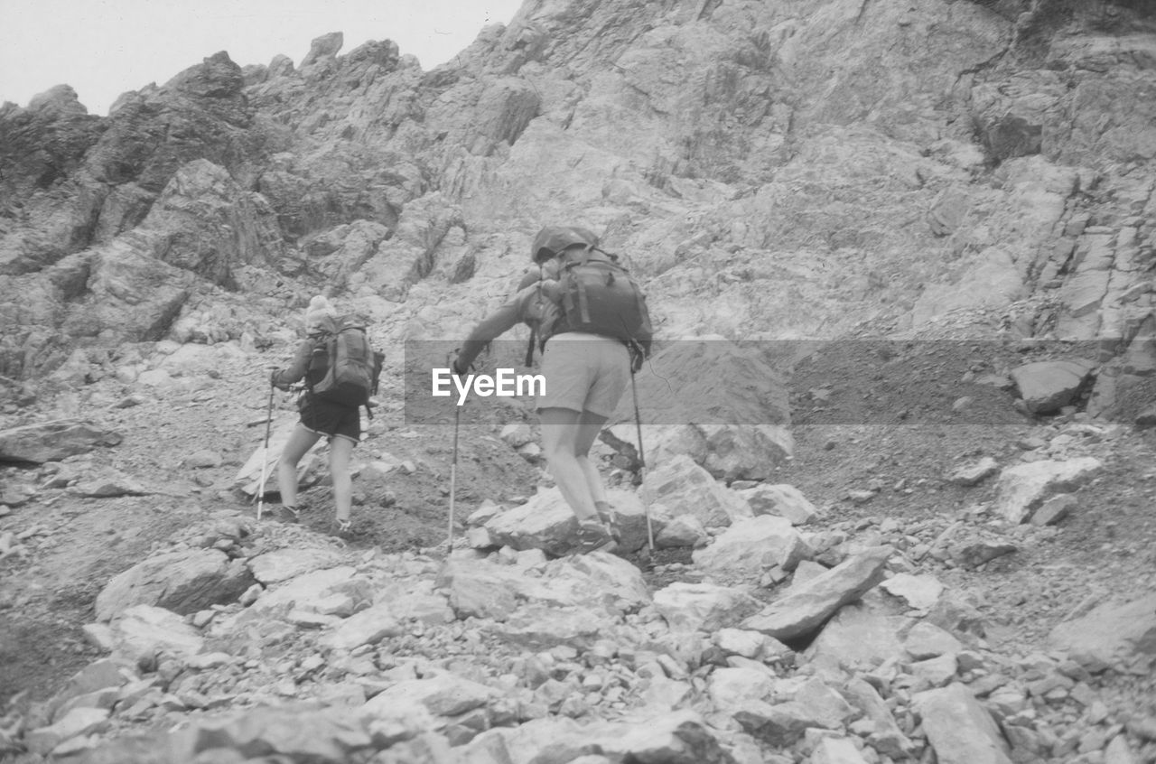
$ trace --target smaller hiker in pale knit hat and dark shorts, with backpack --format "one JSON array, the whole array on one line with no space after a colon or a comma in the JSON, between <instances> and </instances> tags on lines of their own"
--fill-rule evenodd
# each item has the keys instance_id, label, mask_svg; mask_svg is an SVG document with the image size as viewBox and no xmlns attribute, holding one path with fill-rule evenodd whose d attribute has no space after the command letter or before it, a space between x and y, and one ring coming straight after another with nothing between
<instances>
[{"instance_id":1,"label":"smaller hiker in pale knit hat and dark shorts, with backpack","mask_svg":"<svg viewBox=\"0 0 1156 764\"><path fill-rule=\"evenodd\" d=\"M339 317L328 299L313 297L305 311L306 336L297 346L292 363L274 371L274 387L289 390L304 379L305 390L297 401L301 421L289 436L277 462L281 490L279 517L298 522L297 463L321 438L329 442L329 474L336 505L336 531L348 534L351 526L353 481L349 460L361 440L361 407L377 386L381 354L375 353L365 336L365 324L355 317Z\"/></svg>"}]
</instances>

